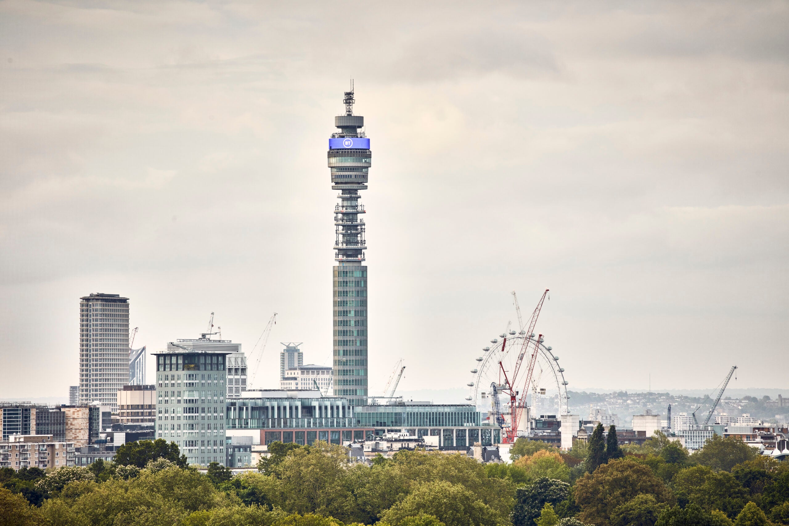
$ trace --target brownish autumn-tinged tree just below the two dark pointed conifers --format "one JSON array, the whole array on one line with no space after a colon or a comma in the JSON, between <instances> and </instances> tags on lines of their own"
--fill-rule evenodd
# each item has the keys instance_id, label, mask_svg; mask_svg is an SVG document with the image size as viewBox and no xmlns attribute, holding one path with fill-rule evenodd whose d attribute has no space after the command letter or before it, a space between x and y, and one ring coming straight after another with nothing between
<instances>
[{"instance_id":1,"label":"brownish autumn-tinged tree just below the two dark pointed conifers","mask_svg":"<svg viewBox=\"0 0 789 526\"><path fill-rule=\"evenodd\" d=\"M645 464L628 458L603 464L578 479L575 502L581 506L579 519L597 526L611 526L614 509L640 494L651 494L656 502L672 501L671 491Z\"/></svg>"}]
</instances>

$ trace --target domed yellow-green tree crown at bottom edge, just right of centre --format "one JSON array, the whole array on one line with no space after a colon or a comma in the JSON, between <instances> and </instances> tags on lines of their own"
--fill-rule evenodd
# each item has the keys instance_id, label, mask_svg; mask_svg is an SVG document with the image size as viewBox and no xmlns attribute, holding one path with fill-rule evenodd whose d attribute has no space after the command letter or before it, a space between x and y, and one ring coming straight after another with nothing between
<instances>
[{"instance_id":1,"label":"domed yellow-green tree crown at bottom edge, just right of centre","mask_svg":"<svg viewBox=\"0 0 789 526\"><path fill-rule=\"evenodd\" d=\"M420 513L432 515L447 526L495 526L505 519L477 495L462 487L445 481L426 483L409 494L401 502L383 512L381 520L399 526L406 517Z\"/></svg>"}]
</instances>

